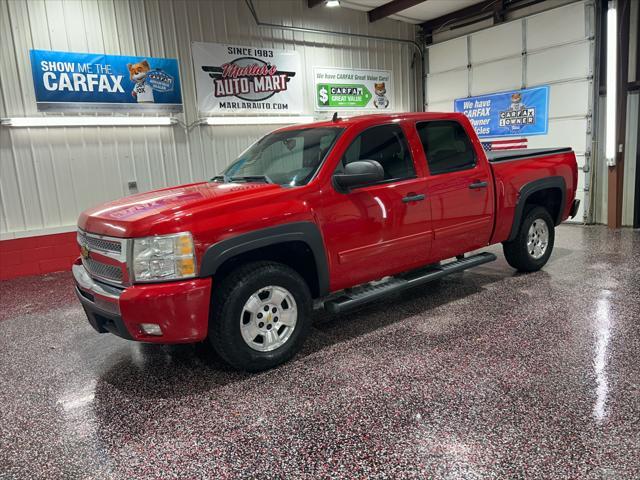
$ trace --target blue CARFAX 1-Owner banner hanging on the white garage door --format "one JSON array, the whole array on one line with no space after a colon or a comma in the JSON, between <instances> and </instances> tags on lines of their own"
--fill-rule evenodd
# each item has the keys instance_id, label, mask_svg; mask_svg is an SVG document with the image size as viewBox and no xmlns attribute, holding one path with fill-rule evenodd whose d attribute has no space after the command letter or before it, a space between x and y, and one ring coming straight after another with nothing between
<instances>
[{"instance_id":1,"label":"blue CARFAX 1-Owner banner hanging on the white garage door","mask_svg":"<svg viewBox=\"0 0 640 480\"><path fill-rule=\"evenodd\" d=\"M528 88L457 99L479 137L546 135L549 130L549 87Z\"/></svg>"}]
</instances>

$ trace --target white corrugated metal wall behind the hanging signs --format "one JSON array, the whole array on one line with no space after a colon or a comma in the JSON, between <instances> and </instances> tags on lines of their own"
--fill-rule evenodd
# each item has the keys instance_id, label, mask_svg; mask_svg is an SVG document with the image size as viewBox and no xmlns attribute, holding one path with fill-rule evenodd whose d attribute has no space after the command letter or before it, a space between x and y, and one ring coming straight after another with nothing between
<instances>
[{"instance_id":1,"label":"white corrugated metal wall behind the hanging signs","mask_svg":"<svg viewBox=\"0 0 640 480\"><path fill-rule=\"evenodd\" d=\"M370 25L348 9L254 0L262 21L413 39L415 27ZM180 62L186 124L197 119L191 42L293 49L305 113L314 66L393 71L398 110L415 110L413 50L344 36L256 27L240 0L0 0L0 117L37 115L29 49L149 55ZM129 193L210 178L271 126L0 128L0 239L69 231L83 209Z\"/></svg>"}]
</instances>

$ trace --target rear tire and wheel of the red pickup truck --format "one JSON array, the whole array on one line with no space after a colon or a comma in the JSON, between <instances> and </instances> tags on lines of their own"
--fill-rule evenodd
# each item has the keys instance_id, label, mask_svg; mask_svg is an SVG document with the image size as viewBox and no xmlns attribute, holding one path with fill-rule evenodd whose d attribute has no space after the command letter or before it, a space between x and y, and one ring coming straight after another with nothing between
<instances>
[{"instance_id":1,"label":"rear tire and wheel of the red pickup truck","mask_svg":"<svg viewBox=\"0 0 640 480\"><path fill-rule=\"evenodd\" d=\"M543 247L545 238L546 246ZM522 220L516 238L504 242L502 249L513 268L521 272L536 272L549 260L554 240L555 224L551 215L544 207L533 207Z\"/></svg>"}]
</instances>

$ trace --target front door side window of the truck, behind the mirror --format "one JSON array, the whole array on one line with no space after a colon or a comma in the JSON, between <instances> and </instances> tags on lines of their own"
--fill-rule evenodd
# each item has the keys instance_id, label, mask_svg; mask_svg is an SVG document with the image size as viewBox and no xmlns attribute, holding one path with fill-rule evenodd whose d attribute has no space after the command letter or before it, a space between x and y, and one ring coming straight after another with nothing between
<instances>
[{"instance_id":1,"label":"front door side window of the truck, behind the mirror","mask_svg":"<svg viewBox=\"0 0 640 480\"><path fill-rule=\"evenodd\" d=\"M338 170L359 160L379 162L384 169L384 178L388 180L409 178L416 174L400 125L380 125L362 132L345 151Z\"/></svg>"}]
</instances>

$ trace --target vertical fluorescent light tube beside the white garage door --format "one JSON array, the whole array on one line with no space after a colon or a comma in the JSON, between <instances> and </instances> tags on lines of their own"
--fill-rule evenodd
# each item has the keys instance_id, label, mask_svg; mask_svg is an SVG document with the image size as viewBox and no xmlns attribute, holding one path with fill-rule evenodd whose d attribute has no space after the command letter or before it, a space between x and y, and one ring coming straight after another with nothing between
<instances>
[{"instance_id":1,"label":"vertical fluorescent light tube beside the white garage door","mask_svg":"<svg viewBox=\"0 0 640 480\"><path fill-rule=\"evenodd\" d=\"M616 164L617 42L616 5L610 1L607 11L607 114L605 127L605 157L607 165L610 167Z\"/></svg>"}]
</instances>

